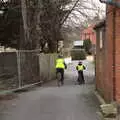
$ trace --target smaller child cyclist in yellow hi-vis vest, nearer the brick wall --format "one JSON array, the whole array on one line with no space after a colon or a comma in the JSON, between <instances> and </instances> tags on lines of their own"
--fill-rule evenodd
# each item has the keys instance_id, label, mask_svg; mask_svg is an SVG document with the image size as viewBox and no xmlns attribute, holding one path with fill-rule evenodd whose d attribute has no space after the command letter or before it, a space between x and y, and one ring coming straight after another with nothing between
<instances>
[{"instance_id":1,"label":"smaller child cyclist in yellow hi-vis vest, nearer the brick wall","mask_svg":"<svg viewBox=\"0 0 120 120\"><path fill-rule=\"evenodd\" d=\"M83 70L85 70L85 69L86 68L82 64L81 61L76 66L76 70L78 71L78 79L77 79L77 81L78 81L79 84L85 84L84 75L83 75Z\"/></svg>"}]
</instances>

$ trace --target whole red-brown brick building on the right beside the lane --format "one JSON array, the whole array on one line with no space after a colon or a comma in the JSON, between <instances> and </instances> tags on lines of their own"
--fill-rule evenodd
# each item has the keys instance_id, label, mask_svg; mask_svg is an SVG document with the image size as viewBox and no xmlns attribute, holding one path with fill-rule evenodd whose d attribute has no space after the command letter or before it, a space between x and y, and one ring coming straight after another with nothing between
<instances>
[{"instance_id":1,"label":"whole red-brown brick building on the right beside the lane","mask_svg":"<svg viewBox=\"0 0 120 120\"><path fill-rule=\"evenodd\" d=\"M107 6L106 21L95 30L96 88L107 102L120 103L120 8Z\"/></svg>"}]
</instances>

